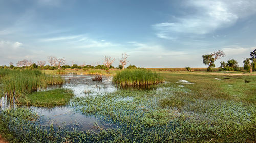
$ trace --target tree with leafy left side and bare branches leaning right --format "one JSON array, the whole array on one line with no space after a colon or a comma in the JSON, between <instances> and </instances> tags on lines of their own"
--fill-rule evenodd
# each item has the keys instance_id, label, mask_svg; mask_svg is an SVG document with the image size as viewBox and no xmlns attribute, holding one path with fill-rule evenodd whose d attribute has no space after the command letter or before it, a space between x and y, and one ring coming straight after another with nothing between
<instances>
[{"instance_id":1,"label":"tree with leafy left side and bare branches leaning right","mask_svg":"<svg viewBox=\"0 0 256 143\"><path fill-rule=\"evenodd\" d=\"M223 53L222 50L218 50L217 52L214 52L214 53L211 53L211 54L208 54L208 55L203 55L203 63L205 65L208 65L208 68L207 68L207 71L213 71L214 70L214 67L215 67L215 64L214 62L217 60L217 59L220 59L220 57L224 57L226 56L225 53Z\"/></svg>"}]
</instances>

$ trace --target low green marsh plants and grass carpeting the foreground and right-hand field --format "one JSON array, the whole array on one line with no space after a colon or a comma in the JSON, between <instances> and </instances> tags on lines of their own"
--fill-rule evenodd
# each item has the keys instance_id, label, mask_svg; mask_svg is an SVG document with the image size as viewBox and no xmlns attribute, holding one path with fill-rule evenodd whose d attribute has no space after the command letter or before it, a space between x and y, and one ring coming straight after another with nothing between
<instances>
[{"instance_id":1,"label":"low green marsh plants and grass carpeting the foreground and right-hand field","mask_svg":"<svg viewBox=\"0 0 256 143\"><path fill-rule=\"evenodd\" d=\"M69 106L112 128L72 131L40 126L28 109L0 113L11 142L254 142L256 73L167 72L151 89L73 97ZM24 115L25 114L25 115ZM28 116L26 120L24 116ZM79 123L78 123L79 124ZM19 128L16 128L19 127ZM21 134L22 133L22 134ZM26 134L24 136L24 134Z\"/></svg>"}]
</instances>

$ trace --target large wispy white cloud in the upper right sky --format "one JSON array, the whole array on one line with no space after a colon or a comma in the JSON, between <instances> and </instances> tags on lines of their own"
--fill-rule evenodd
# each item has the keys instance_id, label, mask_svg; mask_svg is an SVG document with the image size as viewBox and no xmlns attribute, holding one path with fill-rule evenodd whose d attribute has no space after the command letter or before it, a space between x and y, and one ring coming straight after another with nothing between
<instances>
[{"instance_id":1,"label":"large wispy white cloud in the upper right sky","mask_svg":"<svg viewBox=\"0 0 256 143\"><path fill-rule=\"evenodd\" d=\"M226 28L243 18L256 13L256 1L204 1L188 0L185 7L195 12L186 17L176 18L176 22L152 25L157 36L172 39L174 34L207 34Z\"/></svg>"}]
</instances>

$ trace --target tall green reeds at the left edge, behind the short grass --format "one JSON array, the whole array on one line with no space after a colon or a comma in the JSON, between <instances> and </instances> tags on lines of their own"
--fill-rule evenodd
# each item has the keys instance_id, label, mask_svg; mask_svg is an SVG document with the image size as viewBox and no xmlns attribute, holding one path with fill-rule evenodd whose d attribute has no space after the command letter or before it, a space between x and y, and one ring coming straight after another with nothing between
<instances>
[{"instance_id":1,"label":"tall green reeds at the left edge, behind the short grass","mask_svg":"<svg viewBox=\"0 0 256 143\"><path fill-rule=\"evenodd\" d=\"M16 99L23 94L31 94L47 85L63 84L65 81L60 76L46 75L40 70L8 70L1 78L4 92Z\"/></svg>"}]
</instances>

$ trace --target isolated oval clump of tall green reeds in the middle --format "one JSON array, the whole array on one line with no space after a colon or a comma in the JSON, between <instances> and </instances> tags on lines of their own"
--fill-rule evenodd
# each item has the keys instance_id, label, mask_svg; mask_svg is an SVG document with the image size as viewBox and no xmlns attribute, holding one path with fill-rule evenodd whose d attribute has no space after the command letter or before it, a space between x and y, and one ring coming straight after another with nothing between
<instances>
[{"instance_id":1,"label":"isolated oval clump of tall green reeds in the middle","mask_svg":"<svg viewBox=\"0 0 256 143\"><path fill-rule=\"evenodd\" d=\"M160 74L146 69L118 71L113 76L114 83L121 86L156 85L164 81Z\"/></svg>"}]
</instances>

